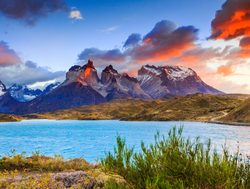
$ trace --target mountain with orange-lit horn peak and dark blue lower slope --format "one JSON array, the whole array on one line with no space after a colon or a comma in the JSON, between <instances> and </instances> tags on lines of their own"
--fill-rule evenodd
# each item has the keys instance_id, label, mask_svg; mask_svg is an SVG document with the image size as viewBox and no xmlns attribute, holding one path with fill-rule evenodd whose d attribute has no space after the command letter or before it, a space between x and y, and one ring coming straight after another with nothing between
<instances>
[{"instance_id":1,"label":"mountain with orange-lit horn peak and dark blue lower slope","mask_svg":"<svg viewBox=\"0 0 250 189\"><path fill-rule=\"evenodd\" d=\"M18 113L48 112L105 102L106 99L95 90L98 87L99 78L92 61L84 66L75 65L66 73L62 84L30 101Z\"/></svg>"}]
</instances>

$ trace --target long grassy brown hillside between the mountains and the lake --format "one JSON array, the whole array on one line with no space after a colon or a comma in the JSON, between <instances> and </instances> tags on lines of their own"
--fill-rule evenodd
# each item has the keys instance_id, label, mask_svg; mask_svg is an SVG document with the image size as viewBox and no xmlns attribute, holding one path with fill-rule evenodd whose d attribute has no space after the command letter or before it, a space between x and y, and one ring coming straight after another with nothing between
<instances>
[{"instance_id":1,"label":"long grassy brown hillside between the mountains and the lake","mask_svg":"<svg viewBox=\"0 0 250 189\"><path fill-rule=\"evenodd\" d=\"M27 118L77 120L215 121L239 106L244 95L195 94L161 100L114 100L99 105L27 115Z\"/></svg>"}]
</instances>

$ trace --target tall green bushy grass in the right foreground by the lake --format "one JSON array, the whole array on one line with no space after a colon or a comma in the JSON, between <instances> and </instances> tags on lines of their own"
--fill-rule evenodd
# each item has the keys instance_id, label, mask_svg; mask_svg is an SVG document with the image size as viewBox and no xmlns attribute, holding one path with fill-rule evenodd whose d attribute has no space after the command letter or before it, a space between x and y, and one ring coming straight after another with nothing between
<instances>
[{"instance_id":1,"label":"tall green bushy grass in the right foreground by the lake","mask_svg":"<svg viewBox=\"0 0 250 189\"><path fill-rule=\"evenodd\" d=\"M117 137L114 153L106 154L101 163L105 171L121 175L126 188L250 188L250 165L239 152L230 155L211 150L207 144L184 139L182 128L173 128L167 137L155 136L155 143L141 152L126 146L125 139ZM109 188L119 188L109 184ZM125 186L122 186L125 188Z\"/></svg>"}]
</instances>

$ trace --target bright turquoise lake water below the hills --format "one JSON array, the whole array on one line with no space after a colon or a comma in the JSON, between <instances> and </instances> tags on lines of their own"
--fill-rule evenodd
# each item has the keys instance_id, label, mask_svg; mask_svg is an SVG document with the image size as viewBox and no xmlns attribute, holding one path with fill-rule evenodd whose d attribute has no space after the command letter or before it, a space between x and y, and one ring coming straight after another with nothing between
<instances>
[{"instance_id":1,"label":"bright turquoise lake water below the hills","mask_svg":"<svg viewBox=\"0 0 250 189\"><path fill-rule=\"evenodd\" d=\"M211 138L218 149L226 142L230 150L235 151L239 146L243 154L250 154L250 127L244 126L197 122L29 120L0 123L0 155L11 154L15 149L17 153L26 152L28 155L40 151L43 155L83 157L95 162L105 152L113 151L118 134L138 150L141 141L153 143L157 131L167 135L174 126L183 126L185 137L194 139L200 136L202 141Z\"/></svg>"}]
</instances>

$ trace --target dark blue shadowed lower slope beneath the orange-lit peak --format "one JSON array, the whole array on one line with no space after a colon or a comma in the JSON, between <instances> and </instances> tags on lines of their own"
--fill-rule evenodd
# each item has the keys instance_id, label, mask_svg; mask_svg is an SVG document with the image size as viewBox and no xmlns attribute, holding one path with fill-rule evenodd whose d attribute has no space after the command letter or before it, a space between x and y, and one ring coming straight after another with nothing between
<instances>
[{"instance_id":1,"label":"dark blue shadowed lower slope beneath the orange-lit peak","mask_svg":"<svg viewBox=\"0 0 250 189\"><path fill-rule=\"evenodd\" d=\"M94 89L80 83L70 83L67 86L56 88L52 92L38 97L29 102L28 106L22 106L17 113L39 113L67 109L76 106L99 104L105 99Z\"/></svg>"}]
</instances>

